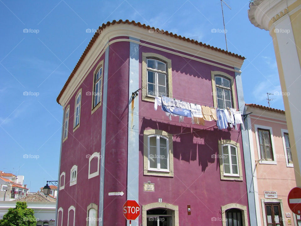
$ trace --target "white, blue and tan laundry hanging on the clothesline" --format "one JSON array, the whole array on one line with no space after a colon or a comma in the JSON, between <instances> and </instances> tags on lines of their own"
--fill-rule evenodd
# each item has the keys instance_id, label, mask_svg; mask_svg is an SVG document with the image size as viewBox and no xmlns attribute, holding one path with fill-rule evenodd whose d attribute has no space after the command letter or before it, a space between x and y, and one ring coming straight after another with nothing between
<instances>
[{"instance_id":1,"label":"white, blue and tan laundry hanging on the clothesline","mask_svg":"<svg viewBox=\"0 0 301 226\"><path fill-rule=\"evenodd\" d=\"M171 116L179 116L179 122L184 121L184 117L191 118L193 124L205 125L205 121L216 121L216 126L219 129L232 128L241 124L245 130L241 112L234 108L219 109L204 105L188 103L182 100L172 99L166 96L156 97L154 108L161 106L161 110L166 112L169 120Z\"/></svg>"}]
</instances>

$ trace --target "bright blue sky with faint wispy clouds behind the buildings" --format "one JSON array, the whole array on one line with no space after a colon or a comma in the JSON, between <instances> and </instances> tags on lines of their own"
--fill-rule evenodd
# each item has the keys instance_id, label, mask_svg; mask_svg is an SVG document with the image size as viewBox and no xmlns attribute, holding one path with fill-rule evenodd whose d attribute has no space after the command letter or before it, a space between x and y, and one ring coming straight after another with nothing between
<instances>
[{"instance_id":1,"label":"bright blue sky with faint wispy clouds behind the buildings","mask_svg":"<svg viewBox=\"0 0 301 226\"><path fill-rule=\"evenodd\" d=\"M245 101L267 105L267 92L281 92L272 38L250 23L249 1L226 3L228 50L247 58ZM93 36L86 29L129 19L226 49L224 33L211 32L224 29L220 0L0 0L0 18L0 170L24 175L30 191L57 180L63 111L56 97ZM284 109L282 96L272 98L271 107Z\"/></svg>"}]
</instances>

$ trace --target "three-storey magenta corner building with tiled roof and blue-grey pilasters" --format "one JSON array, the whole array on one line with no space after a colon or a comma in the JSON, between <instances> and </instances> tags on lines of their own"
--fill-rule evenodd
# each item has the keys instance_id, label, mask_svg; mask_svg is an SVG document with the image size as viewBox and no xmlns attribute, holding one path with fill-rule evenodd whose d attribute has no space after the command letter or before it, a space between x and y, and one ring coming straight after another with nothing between
<instances>
[{"instance_id":1,"label":"three-storey magenta corner building with tiled roof and blue-grey pilasters","mask_svg":"<svg viewBox=\"0 0 301 226\"><path fill-rule=\"evenodd\" d=\"M126 200L141 207L135 226L250 225L240 126L154 109L163 94L243 111L244 59L134 21L99 27L57 98L57 225L129 225Z\"/></svg>"}]
</instances>

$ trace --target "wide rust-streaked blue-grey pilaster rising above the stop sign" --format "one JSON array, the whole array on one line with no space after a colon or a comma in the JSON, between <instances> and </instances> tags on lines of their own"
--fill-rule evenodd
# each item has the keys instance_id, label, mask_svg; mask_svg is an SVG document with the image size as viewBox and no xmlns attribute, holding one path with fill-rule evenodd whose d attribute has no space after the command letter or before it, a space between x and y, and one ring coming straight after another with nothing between
<instances>
[{"instance_id":1,"label":"wide rust-streaked blue-grey pilaster rising above the stop sign","mask_svg":"<svg viewBox=\"0 0 301 226\"><path fill-rule=\"evenodd\" d=\"M130 40L139 41L130 37ZM128 138L128 179L127 199L138 200L139 177L139 99L140 94L134 99L132 93L139 89L139 44L129 43L129 138ZM129 222L128 222L129 225ZM138 219L132 221L133 226L138 226Z\"/></svg>"}]
</instances>

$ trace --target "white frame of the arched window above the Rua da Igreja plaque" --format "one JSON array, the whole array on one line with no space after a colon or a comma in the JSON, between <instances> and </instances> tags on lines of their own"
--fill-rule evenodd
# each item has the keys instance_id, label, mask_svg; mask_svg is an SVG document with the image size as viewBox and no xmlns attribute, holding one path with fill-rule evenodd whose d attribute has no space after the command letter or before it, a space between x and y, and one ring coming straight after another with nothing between
<instances>
[{"instance_id":1,"label":"white frame of the arched window above the Rua da Igreja plaque","mask_svg":"<svg viewBox=\"0 0 301 226\"><path fill-rule=\"evenodd\" d=\"M157 148L157 168L150 168L150 137L156 137L156 148ZM167 153L167 169L161 169L159 167L160 163L160 137L164 138L166 140L166 153ZM158 146L159 144L159 146ZM169 172L169 143L168 143L168 137L165 137L160 134L152 134L147 137L147 149L148 149L148 170L151 171L160 171L160 172Z\"/></svg>"}]
</instances>

